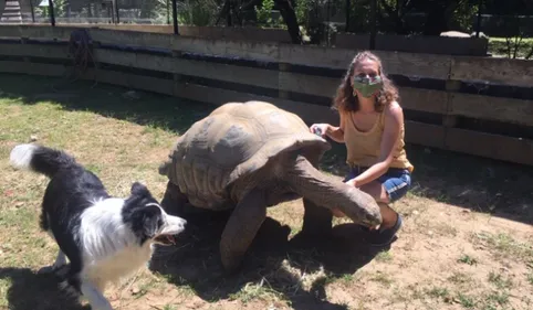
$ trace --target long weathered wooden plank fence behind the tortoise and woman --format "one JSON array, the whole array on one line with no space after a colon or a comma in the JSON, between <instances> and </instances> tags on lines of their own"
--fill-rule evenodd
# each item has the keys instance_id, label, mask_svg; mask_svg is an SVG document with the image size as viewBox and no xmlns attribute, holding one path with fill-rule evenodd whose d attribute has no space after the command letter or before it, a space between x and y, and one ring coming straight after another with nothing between
<instances>
[{"instance_id":1,"label":"long weathered wooden plank fence behind the tortoise and woman","mask_svg":"<svg viewBox=\"0 0 533 310\"><path fill-rule=\"evenodd\" d=\"M0 26L0 72L62 76L74 28ZM87 30L103 83L220 105L264 99L337 124L354 50ZM376 51L399 86L406 140L533 165L533 62Z\"/></svg>"}]
</instances>

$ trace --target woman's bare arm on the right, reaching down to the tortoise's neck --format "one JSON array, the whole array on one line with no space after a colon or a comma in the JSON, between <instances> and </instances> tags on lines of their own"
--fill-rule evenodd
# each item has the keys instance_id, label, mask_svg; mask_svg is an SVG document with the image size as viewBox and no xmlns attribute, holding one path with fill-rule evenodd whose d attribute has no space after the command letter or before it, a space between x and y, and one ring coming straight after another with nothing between
<instances>
[{"instance_id":1,"label":"woman's bare arm on the right, reaching down to the tortoise's neck","mask_svg":"<svg viewBox=\"0 0 533 310\"><path fill-rule=\"evenodd\" d=\"M382 138L380 152L378 161L360 173L352 182L359 188L369 183L387 172L390 162L394 159L394 148L398 141L400 129L404 124L404 111L401 107L394 103L387 107L385 111L385 128Z\"/></svg>"}]
</instances>

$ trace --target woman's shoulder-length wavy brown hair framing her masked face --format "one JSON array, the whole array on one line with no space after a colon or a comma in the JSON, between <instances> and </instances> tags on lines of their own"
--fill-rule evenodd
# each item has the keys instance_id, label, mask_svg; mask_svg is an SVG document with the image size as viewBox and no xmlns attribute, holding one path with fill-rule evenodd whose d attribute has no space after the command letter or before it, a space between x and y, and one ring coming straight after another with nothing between
<instances>
[{"instance_id":1,"label":"woman's shoulder-length wavy brown hair framing her masked face","mask_svg":"<svg viewBox=\"0 0 533 310\"><path fill-rule=\"evenodd\" d=\"M370 60L377 63L378 74L383 79L383 88L376 96L376 105L374 108L376 111L383 111L385 106L398 100L398 88L394 85L386 74L384 73L382 60L369 51L357 53L352 60L348 70L343 78L343 82L337 88L336 95L333 99L333 108L341 113L357 111L359 109L359 100L354 96L354 88L352 86L352 77L354 75L355 66L363 60Z\"/></svg>"}]
</instances>

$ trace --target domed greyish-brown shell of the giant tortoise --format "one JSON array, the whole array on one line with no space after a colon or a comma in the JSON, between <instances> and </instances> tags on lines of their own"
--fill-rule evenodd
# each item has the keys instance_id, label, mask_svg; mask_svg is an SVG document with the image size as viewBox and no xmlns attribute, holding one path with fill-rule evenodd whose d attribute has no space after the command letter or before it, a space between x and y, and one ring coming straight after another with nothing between
<instances>
[{"instance_id":1,"label":"domed greyish-brown shell of the giant tortoise","mask_svg":"<svg viewBox=\"0 0 533 310\"><path fill-rule=\"evenodd\" d=\"M271 159L294 150L318 159L330 148L297 115L273 104L227 103L178 138L159 173L195 206L221 209L228 201L228 185L261 170Z\"/></svg>"}]
</instances>

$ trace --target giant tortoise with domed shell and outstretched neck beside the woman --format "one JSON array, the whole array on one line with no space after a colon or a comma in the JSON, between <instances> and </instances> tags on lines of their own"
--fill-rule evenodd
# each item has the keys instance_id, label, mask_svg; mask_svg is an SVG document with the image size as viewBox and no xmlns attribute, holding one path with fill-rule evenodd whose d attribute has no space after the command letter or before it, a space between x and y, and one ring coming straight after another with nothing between
<instances>
[{"instance_id":1,"label":"giant tortoise with domed shell and outstretched neck beside the woman","mask_svg":"<svg viewBox=\"0 0 533 310\"><path fill-rule=\"evenodd\" d=\"M332 207L365 226L382 223L375 200L315 167L331 145L295 114L270 103L227 103L180 136L159 167L169 181L163 207L234 209L220 240L232 272L266 217L266 207L303 197L302 234L327 234Z\"/></svg>"}]
</instances>

